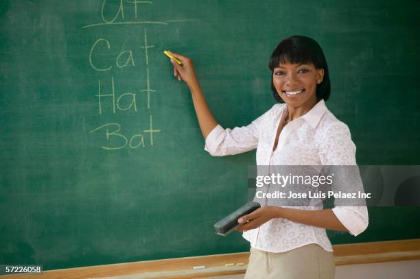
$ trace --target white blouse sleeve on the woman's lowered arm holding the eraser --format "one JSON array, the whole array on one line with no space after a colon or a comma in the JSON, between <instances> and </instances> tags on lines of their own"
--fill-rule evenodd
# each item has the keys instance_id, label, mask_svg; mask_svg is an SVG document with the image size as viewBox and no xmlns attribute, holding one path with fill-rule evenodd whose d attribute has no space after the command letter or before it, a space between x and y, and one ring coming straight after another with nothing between
<instances>
[{"instance_id":1,"label":"white blouse sleeve on the woman's lowered arm holding the eraser","mask_svg":"<svg viewBox=\"0 0 420 279\"><path fill-rule=\"evenodd\" d=\"M320 142L320 154L323 165L338 166L336 167L336 170L338 170L336 172L341 172L340 176L347 175L347 177L340 177L340 179L336 176L335 179L338 182L334 186L335 189L333 189L335 192L357 193L357 191L360 191L364 193L358 169L340 167L356 165L355 145L351 141L351 134L345 123L334 123L325 130L323 139ZM360 199L358 202L360 202ZM365 205L364 200L362 200L362 204ZM335 206L332 208L332 211L353 236L364 232L369 225L369 215L366 206Z\"/></svg>"}]
</instances>

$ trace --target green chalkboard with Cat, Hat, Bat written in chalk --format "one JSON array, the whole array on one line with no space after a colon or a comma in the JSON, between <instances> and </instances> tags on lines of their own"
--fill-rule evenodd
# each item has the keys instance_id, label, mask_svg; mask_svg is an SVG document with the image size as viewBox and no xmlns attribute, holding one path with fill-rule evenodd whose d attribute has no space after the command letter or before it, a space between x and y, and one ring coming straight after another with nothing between
<instances>
[{"instance_id":1,"label":"green chalkboard with Cat, Hat, Bat written in chalk","mask_svg":"<svg viewBox=\"0 0 420 279\"><path fill-rule=\"evenodd\" d=\"M358 163L418 164L418 14L418 1L1 1L0 263L248 250L213 223L246 202L255 153L204 151L165 49L194 59L215 117L233 127L274 104L267 65L279 40L311 36ZM329 236L419 238L419 213L371 208L364 234Z\"/></svg>"}]
</instances>

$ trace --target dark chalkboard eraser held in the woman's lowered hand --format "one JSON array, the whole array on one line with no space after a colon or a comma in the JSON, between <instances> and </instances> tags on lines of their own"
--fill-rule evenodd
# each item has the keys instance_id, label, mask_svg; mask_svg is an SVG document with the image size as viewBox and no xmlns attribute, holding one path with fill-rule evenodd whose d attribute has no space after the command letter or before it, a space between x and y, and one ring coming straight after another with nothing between
<instances>
[{"instance_id":1,"label":"dark chalkboard eraser held in the woman's lowered hand","mask_svg":"<svg viewBox=\"0 0 420 279\"><path fill-rule=\"evenodd\" d=\"M216 233L222 236L230 234L233 230L235 230L235 228L237 228L237 226L240 225L240 223L237 223L237 219L240 219L240 217L252 213L254 210L257 210L260 207L261 205L257 202L248 202L244 204L244 206L238 208L237 210L233 211L233 213L227 215L226 217L214 224L214 229Z\"/></svg>"}]
</instances>

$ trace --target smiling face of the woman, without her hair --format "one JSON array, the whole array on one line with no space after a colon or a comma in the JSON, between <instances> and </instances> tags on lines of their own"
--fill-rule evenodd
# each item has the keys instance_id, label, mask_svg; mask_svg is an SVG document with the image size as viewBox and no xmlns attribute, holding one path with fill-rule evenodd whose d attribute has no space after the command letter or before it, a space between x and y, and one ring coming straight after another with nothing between
<instances>
[{"instance_id":1,"label":"smiling face of the woman, without her hair","mask_svg":"<svg viewBox=\"0 0 420 279\"><path fill-rule=\"evenodd\" d=\"M314 64L279 64L272 72L272 83L281 99L289 106L305 107L316 104L316 84L324 77L323 69Z\"/></svg>"}]
</instances>

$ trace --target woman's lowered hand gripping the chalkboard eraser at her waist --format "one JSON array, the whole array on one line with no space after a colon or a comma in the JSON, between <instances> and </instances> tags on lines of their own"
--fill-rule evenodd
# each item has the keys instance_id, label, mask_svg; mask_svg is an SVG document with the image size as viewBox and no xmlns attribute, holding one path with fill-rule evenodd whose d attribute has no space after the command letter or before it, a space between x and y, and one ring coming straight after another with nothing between
<instances>
[{"instance_id":1,"label":"woman's lowered hand gripping the chalkboard eraser at her waist","mask_svg":"<svg viewBox=\"0 0 420 279\"><path fill-rule=\"evenodd\" d=\"M242 225L237 227L236 230L244 232L246 230L258 228L263 223L266 223L270 219L275 218L276 210L277 207L275 206L263 206L248 215L244 215L240 217L240 219L237 219L237 222Z\"/></svg>"}]
</instances>

